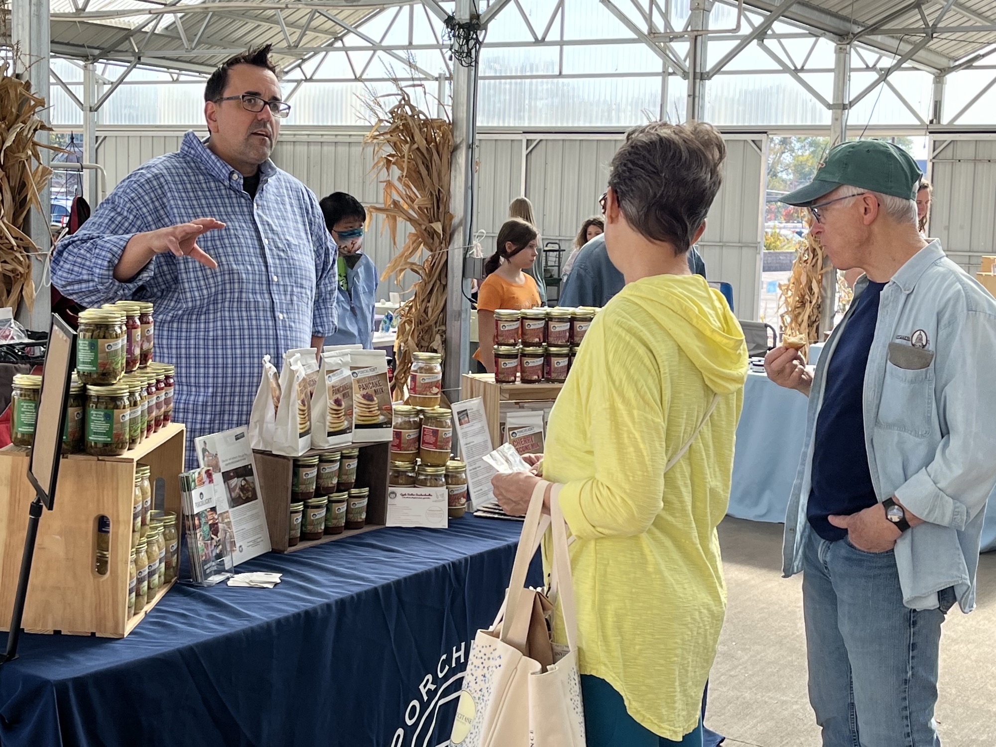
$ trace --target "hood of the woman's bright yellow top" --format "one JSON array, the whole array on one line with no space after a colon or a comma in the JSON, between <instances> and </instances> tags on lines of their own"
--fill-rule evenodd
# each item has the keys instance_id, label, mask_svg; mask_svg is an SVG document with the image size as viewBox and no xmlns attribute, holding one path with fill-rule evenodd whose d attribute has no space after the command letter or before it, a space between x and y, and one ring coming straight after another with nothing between
<instances>
[{"instance_id":1,"label":"hood of the woman's bright yellow top","mask_svg":"<svg viewBox=\"0 0 996 747\"><path fill-rule=\"evenodd\" d=\"M638 304L674 338L709 387L729 394L747 378L743 330L723 295L700 275L654 275L620 296Z\"/></svg>"}]
</instances>

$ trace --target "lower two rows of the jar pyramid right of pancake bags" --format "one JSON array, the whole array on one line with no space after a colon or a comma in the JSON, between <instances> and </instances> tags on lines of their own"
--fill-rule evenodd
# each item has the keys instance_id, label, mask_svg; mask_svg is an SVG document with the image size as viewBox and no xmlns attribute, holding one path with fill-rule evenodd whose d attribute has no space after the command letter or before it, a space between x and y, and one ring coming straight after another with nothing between
<instances>
[{"instance_id":1,"label":"lower two rows of the jar pyramid right of pancake bags","mask_svg":"<svg viewBox=\"0 0 996 747\"><path fill-rule=\"evenodd\" d=\"M467 505L466 465L453 458L453 415L445 407L395 404L390 442L390 487L447 488L449 515Z\"/></svg>"}]
</instances>

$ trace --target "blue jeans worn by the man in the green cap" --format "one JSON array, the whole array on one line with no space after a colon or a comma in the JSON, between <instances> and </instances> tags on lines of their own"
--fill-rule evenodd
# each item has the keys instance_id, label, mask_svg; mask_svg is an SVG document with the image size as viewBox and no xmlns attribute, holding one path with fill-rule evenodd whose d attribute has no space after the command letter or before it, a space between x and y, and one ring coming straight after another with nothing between
<instances>
[{"instance_id":1,"label":"blue jeans worn by the man in the green cap","mask_svg":"<svg viewBox=\"0 0 996 747\"><path fill-rule=\"evenodd\" d=\"M867 553L811 532L803 612L824 747L940 747L933 713L944 612L903 607L891 550Z\"/></svg>"}]
</instances>

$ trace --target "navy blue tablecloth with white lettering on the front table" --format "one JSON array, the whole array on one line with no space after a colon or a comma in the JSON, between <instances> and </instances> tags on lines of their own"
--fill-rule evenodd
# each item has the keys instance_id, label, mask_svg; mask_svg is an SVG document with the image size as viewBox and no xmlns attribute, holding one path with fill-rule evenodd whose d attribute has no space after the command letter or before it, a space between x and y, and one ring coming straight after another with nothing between
<instances>
[{"instance_id":1,"label":"navy blue tablecloth with white lettering on the front table","mask_svg":"<svg viewBox=\"0 0 996 747\"><path fill-rule=\"evenodd\" d=\"M25 634L0 743L434 747L521 528L380 529L239 567L283 573L273 590L174 586L123 639Z\"/></svg>"}]
</instances>

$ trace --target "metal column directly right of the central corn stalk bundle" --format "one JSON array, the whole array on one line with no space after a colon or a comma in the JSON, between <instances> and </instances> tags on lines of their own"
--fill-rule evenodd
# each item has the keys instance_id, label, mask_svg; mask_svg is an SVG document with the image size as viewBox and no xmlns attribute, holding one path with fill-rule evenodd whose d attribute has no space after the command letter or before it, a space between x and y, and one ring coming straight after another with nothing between
<instances>
[{"instance_id":1,"label":"metal column directly right of the central corn stalk bundle","mask_svg":"<svg viewBox=\"0 0 996 747\"><path fill-rule=\"evenodd\" d=\"M458 23L470 19L470 0L456 0L453 14ZM450 160L449 211L453 227L449 237L446 273L446 360L443 389L451 400L459 398L460 377L470 366L470 302L464 293L464 247L473 236L474 143L477 106L477 61L464 67L453 65L452 112L453 156Z\"/></svg>"}]
</instances>

